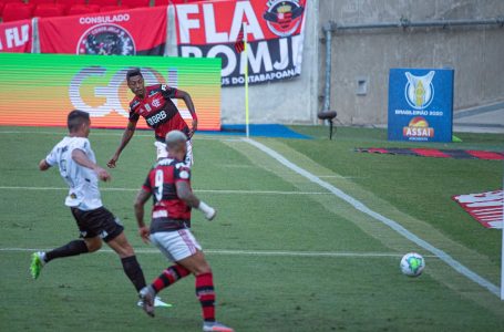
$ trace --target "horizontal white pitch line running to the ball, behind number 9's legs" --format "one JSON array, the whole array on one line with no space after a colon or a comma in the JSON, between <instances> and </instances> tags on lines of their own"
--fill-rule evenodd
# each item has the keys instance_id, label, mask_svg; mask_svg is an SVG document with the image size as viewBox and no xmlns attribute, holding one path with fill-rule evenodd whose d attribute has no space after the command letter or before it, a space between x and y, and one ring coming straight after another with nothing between
<instances>
[{"instance_id":1,"label":"horizontal white pitch line running to the ball, behind number 9's legs","mask_svg":"<svg viewBox=\"0 0 504 332\"><path fill-rule=\"evenodd\" d=\"M35 252L49 251L49 248L0 248L0 252ZM137 253L157 253L157 249L134 249ZM392 257L400 258L401 253L394 252L351 252L351 251L277 251L277 250L232 250L232 249L204 249L205 253L223 256L270 256L270 257ZM101 249L99 252L113 253L111 249ZM429 256L428 256L429 257ZM432 256L434 258L434 256Z\"/></svg>"}]
</instances>

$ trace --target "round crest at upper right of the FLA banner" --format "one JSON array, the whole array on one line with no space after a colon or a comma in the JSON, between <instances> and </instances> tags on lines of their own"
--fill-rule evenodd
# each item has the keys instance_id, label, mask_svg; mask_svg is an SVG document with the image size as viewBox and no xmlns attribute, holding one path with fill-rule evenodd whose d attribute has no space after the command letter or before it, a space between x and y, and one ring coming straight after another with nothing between
<instances>
[{"instance_id":1,"label":"round crest at upper right of the FLA banner","mask_svg":"<svg viewBox=\"0 0 504 332\"><path fill-rule=\"evenodd\" d=\"M291 35L301 23L305 8L299 0L269 0L263 18L269 30L278 37Z\"/></svg>"}]
</instances>

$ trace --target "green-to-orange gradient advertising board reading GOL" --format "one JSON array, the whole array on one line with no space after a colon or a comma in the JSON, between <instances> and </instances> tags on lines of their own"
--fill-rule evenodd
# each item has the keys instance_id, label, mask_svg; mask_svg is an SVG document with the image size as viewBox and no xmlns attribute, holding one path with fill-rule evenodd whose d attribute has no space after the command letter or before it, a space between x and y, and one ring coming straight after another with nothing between
<instances>
[{"instance_id":1,"label":"green-to-orange gradient advertising board reading GOL","mask_svg":"<svg viewBox=\"0 0 504 332\"><path fill-rule=\"evenodd\" d=\"M13 53L0 53L0 125L66 126L68 112L78 108L90 113L94 127L124 128L134 97L126 71L134 66L146 85L188 92L198 129L220 129L220 59ZM189 122L185 103L173 102ZM138 127L147 128L143 120Z\"/></svg>"}]
</instances>

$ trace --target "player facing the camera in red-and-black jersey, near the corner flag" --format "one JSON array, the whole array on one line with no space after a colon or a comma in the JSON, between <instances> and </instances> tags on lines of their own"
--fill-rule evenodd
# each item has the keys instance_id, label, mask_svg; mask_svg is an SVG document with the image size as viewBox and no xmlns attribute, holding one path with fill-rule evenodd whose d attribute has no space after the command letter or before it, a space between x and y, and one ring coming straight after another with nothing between
<instances>
[{"instance_id":1,"label":"player facing the camera in red-and-black jersey, near the corner flag","mask_svg":"<svg viewBox=\"0 0 504 332\"><path fill-rule=\"evenodd\" d=\"M114 168L117 159L126 147L136 129L140 116L145 118L147 125L154 129L157 148L157 159L166 157L164 139L167 133L181 131L189 137L187 139L186 162L193 164L193 143L191 138L197 129L198 118L194 110L191 95L182 90L171 87L166 84L154 84L145 86L145 81L138 68L128 70L126 73L127 86L135 94L130 103L130 120L124 131L121 144L115 154L109 160L107 166ZM192 128L189 128L178 112L172 98L183 100L193 116Z\"/></svg>"}]
</instances>

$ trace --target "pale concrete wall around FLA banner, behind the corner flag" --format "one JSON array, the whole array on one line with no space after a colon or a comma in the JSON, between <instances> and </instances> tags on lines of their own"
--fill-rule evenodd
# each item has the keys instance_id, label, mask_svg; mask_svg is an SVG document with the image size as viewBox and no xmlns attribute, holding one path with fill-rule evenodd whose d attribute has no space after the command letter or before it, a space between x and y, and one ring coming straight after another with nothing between
<instances>
[{"instance_id":1,"label":"pale concrete wall around FLA banner, behind the corner flag","mask_svg":"<svg viewBox=\"0 0 504 332\"><path fill-rule=\"evenodd\" d=\"M316 122L318 107L318 1L309 0L307 8L301 75L288 81L250 85L250 122L260 123L309 123ZM175 55L175 15L168 9L168 41L166 54ZM171 24L173 24L171 27ZM196 105L197 106L197 105ZM222 122L245 123L245 93L243 86L222 90Z\"/></svg>"}]
</instances>

